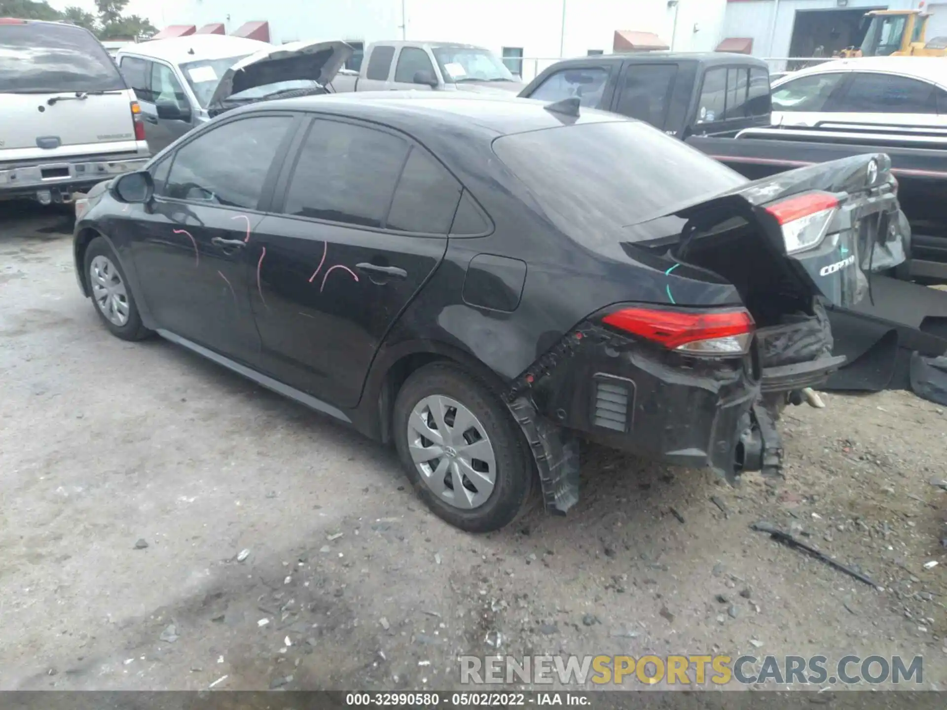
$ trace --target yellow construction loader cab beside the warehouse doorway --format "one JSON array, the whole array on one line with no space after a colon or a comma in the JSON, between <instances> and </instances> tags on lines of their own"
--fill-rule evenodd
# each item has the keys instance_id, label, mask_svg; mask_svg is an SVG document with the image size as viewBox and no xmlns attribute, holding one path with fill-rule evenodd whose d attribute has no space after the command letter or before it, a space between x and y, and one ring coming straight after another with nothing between
<instances>
[{"instance_id":1,"label":"yellow construction loader cab beside the warehouse doorway","mask_svg":"<svg viewBox=\"0 0 947 710\"><path fill-rule=\"evenodd\" d=\"M920 9L876 9L865 15L865 40L835 57L947 57L947 37L925 41L930 15Z\"/></svg>"}]
</instances>

